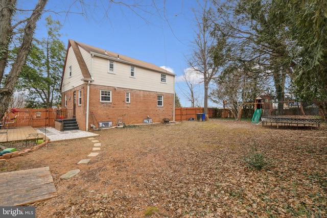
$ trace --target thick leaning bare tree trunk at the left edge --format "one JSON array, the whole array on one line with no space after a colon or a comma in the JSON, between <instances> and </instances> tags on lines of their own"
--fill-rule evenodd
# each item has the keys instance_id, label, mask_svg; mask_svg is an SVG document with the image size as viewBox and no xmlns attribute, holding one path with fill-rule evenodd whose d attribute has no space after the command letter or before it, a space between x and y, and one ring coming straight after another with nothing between
<instances>
[{"instance_id":1,"label":"thick leaning bare tree trunk at the left edge","mask_svg":"<svg viewBox=\"0 0 327 218\"><path fill-rule=\"evenodd\" d=\"M6 1L5 1L6 2ZM14 1L13 1L14 2ZM25 29L24 29L24 37L22 39L21 45L19 47L17 57L9 71L7 80L2 89L0 89L0 117L3 117L6 109L8 109L10 100L14 93L15 85L18 81L19 73L22 67L25 64L27 56L29 54L29 49L32 43L34 30L36 27L36 22L40 18L42 11L48 0L39 0L35 9L33 10L31 16L28 18ZM12 15L8 14L7 16ZM4 17L7 19L8 17ZM8 18L11 20L11 18ZM1 23L2 24L2 23ZM7 35L6 37L11 38L12 35ZM8 46L5 48L8 53Z\"/></svg>"}]
</instances>

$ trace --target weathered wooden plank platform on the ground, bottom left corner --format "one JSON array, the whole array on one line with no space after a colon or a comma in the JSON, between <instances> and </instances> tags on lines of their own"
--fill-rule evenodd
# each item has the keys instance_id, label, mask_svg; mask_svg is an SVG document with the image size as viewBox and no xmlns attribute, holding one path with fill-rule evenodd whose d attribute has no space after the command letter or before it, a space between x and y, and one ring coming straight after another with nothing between
<instances>
[{"instance_id":1,"label":"weathered wooden plank platform on the ground, bottom left corner","mask_svg":"<svg viewBox=\"0 0 327 218\"><path fill-rule=\"evenodd\" d=\"M0 205L21 206L57 196L48 166L0 174Z\"/></svg>"}]
</instances>

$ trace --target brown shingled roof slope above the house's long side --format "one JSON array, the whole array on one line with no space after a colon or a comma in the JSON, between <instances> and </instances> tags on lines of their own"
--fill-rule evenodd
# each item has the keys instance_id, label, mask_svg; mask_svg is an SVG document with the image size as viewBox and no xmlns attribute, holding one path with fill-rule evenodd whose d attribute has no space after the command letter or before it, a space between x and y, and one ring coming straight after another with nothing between
<instances>
[{"instance_id":1,"label":"brown shingled roof slope above the house's long side","mask_svg":"<svg viewBox=\"0 0 327 218\"><path fill-rule=\"evenodd\" d=\"M76 43L78 46L82 47L82 49L84 49L85 51L87 51L90 54L94 54L95 56L111 59L111 60L114 60L114 61L117 61L117 62L122 62L122 63L135 65L135 66L138 66L138 67L151 69L151 70L158 71L158 72L163 72L163 73L169 74L169 75L174 75L172 72L167 71L166 69L163 69L161 67L158 67L158 66L156 66L154 64L151 64L151 63L148 63L148 62L145 62L145 61L137 60L137 59L134 59L134 58L127 57L125 55L121 55L121 54L118 54L118 53L114 53L114 52L110 52L110 51L107 51L107 50L104 50L104 49L100 49L98 47L94 47L94 46L87 45L87 44L84 44L84 43L81 43L81 42L77 42L77 41L74 41L72 39L69 39L69 42L71 42L71 44L73 44L73 42ZM74 49L74 47L73 47L73 49Z\"/></svg>"}]
</instances>

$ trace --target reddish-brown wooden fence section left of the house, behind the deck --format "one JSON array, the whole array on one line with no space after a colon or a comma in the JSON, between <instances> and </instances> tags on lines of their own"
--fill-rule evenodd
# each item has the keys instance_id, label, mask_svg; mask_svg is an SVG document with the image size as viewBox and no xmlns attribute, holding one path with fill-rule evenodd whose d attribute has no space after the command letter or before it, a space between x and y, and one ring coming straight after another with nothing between
<instances>
[{"instance_id":1,"label":"reddish-brown wooden fence section left of the house, behind the deck","mask_svg":"<svg viewBox=\"0 0 327 218\"><path fill-rule=\"evenodd\" d=\"M40 127L55 127L55 119L57 118L70 118L71 114L67 109L57 108L17 108L18 112L6 114L6 122L9 122L8 127L26 127L31 126L33 128ZM11 123L11 120L17 116L15 123ZM2 119L3 122L4 118ZM3 128L6 128L4 125Z\"/></svg>"}]
</instances>

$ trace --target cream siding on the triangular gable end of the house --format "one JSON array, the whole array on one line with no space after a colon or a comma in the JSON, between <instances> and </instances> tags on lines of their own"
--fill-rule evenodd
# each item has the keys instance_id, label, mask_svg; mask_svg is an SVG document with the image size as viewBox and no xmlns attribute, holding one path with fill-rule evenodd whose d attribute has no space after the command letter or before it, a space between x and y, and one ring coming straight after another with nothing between
<instances>
[{"instance_id":1,"label":"cream siding on the triangular gable end of the house","mask_svg":"<svg viewBox=\"0 0 327 218\"><path fill-rule=\"evenodd\" d=\"M69 66L72 66L72 77L69 77ZM78 65L73 48L70 47L68 50L68 56L67 56L66 65L65 65L65 69L64 69L64 76L63 76L61 92L65 92L69 89L72 89L74 87L82 85L83 84L83 81L81 81L82 78L83 78L82 72Z\"/></svg>"}]
</instances>

